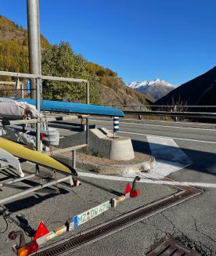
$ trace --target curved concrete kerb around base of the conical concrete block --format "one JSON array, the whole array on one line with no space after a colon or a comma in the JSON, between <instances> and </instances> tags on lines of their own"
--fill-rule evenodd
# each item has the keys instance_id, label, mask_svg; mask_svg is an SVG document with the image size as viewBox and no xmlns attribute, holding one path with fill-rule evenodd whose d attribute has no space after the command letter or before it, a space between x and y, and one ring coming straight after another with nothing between
<instances>
[{"instance_id":1,"label":"curved concrete kerb around base of the conical concrete block","mask_svg":"<svg viewBox=\"0 0 216 256\"><path fill-rule=\"evenodd\" d=\"M56 155L57 160L62 161L65 164L71 164L71 157ZM78 169L84 171L94 171L99 174L115 175L115 174L128 174L133 172L145 172L154 168L156 165L156 160L154 157L150 157L149 160L142 161L136 164L96 164L88 160L76 161L76 166Z\"/></svg>"}]
</instances>

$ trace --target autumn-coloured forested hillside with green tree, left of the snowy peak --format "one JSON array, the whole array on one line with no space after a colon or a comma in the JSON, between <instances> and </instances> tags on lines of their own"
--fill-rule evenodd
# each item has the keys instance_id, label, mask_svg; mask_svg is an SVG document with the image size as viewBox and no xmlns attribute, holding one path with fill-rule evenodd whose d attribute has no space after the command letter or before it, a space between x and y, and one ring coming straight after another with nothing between
<instances>
[{"instance_id":1,"label":"autumn-coloured forested hillside with green tree, left of the snowy peak","mask_svg":"<svg viewBox=\"0 0 216 256\"><path fill-rule=\"evenodd\" d=\"M27 45L27 30L0 16L0 70L28 73ZM128 88L113 70L89 63L81 55L75 54L67 42L50 45L41 35L41 49L42 74L88 79L91 103L147 104L151 100ZM85 85L45 82L43 88L45 99L67 98L70 101L85 102Z\"/></svg>"}]
</instances>

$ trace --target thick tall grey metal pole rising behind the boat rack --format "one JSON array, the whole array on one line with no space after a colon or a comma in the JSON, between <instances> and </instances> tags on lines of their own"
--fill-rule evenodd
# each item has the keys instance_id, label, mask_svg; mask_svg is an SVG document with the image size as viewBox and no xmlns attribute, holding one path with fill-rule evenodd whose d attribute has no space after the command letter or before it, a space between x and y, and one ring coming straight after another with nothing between
<instances>
[{"instance_id":1,"label":"thick tall grey metal pole rising behind the boat rack","mask_svg":"<svg viewBox=\"0 0 216 256\"><path fill-rule=\"evenodd\" d=\"M41 45L38 0L27 0L27 28L29 69L31 74L41 74ZM31 81L31 99L36 99L35 81Z\"/></svg>"}]
</instances>

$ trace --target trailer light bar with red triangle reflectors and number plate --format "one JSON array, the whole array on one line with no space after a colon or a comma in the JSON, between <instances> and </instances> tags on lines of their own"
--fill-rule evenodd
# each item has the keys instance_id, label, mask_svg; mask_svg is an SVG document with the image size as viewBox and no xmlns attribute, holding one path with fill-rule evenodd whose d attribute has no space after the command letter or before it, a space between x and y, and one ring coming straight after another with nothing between
<instances>
[{"instance_id":1,"label":"trailer light bar with red triangle reflectors and number plate","mask_svg":"<svg viewBox=\"0 0 216 256\"><path fill-rule=\"evenodd\" d=\"M103 214L105 211L108 211L111 208L117 207L128 198L138 197L141 194L141 191L139 189L136 189L136 182L139 180L139 176L136 176L132 183L132 187L128 183L126 189L124 190L124 193L120 193L116 190L100 186L98 184L95 184L94 182L87 181L85 180L85 178L78 177L79 182L85 182L90 186L95 186L99 189L103 189L105 191L113 193L117 197L113 197L110 200L107 200L102 204L88 209L87 211L82 212L79 215L70 216L70 218L66 220L64 225L61 225L56 229L52 230L47 229L42 221L39 223L38 229L35 230L31 227L27 218L24 215L20 214L14 217L13 214L4 205L0 205L0 215L2 215L5 221L7 223L9 221L10 223L13 223L19 227L19 230L11 231L9 233L10 240L17 240L17 243L13 245L13 253L17 256L28 256L34 254L40 249L41 245L56 238L56 236L79 228L81 225L84 225L92 218ZM26 241L25 235L30 238L28 242Z\"/></svg>"}]
</instances>

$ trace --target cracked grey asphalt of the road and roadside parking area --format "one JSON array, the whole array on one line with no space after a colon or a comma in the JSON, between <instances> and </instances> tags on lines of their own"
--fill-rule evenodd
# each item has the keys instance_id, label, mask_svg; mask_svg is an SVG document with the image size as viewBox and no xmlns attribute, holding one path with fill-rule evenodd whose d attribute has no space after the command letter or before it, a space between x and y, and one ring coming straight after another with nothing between
<instances>
[{"instance_id":1,"label":"cracked grey asphalt of the road and roadside parking area","mask_svg":"<svg viewBox=\"0 0 216 256\"><path fill-rule=\"evenodd\" d=\"M92 124L113 128L113 121L109 118L92 117ZM138 124L136 124L138 123ZM171 138L180 149L192 161L187 168L172 173L169 177L183 182L205 182L216 184L216 130L197 128L175 128L170 126L146 125L143 121L124 120L120 124L120 135L131 137L135 150L151 153L148 136L155 138ZM30 171L29 166L24 168ZM0 177L1 178L1 177ZM101 185L110 186L113 189L124 190L125 182L97 179ZM142 189L142 196L135 200L124 202L116 211L109 211L95 218L88 225L81 228L88 229L94 225L105 222L125 212L131 211L142 205L147 205L171 193L175 188L164 185L152 185L139 183ZM70 190L69 190L70 191ZM72 189L61 189L59 195L36 193L15 203L8 203L10 211L22 212L28 217L31 225L37 227L39 220L47 221L49 227L56 226L53 222L63 222L68 215L75 215L88 208L94 207L104 200L112 197L110 193L102 192L99 189L92 189L85 184ZM2 193L2 192L1 192ZM10 193L7 188L6 193ZM216 255L216 189L202 188L202 194L186 200L182 204L161 212L139 222L121 232L108 236L98 242L81 247L68 255L146 255L156 247L165 236L171 236L198 251L201 255ZM0 227L3 229L5 223L0 218ZM12 226L13 227L13 226ZM10 226L11 228L11 226ZM15 227L13 227L15 228ZM7 235L10 230L0 234L1 256L12 255L11 245ZM1 232L1 230L0 230ZM80 230L77 230L77 233ZM71 236L68 233L67 237ZM62 238L62 237L61 237Z\"/></svg>"}]
</instances>

